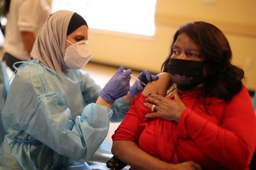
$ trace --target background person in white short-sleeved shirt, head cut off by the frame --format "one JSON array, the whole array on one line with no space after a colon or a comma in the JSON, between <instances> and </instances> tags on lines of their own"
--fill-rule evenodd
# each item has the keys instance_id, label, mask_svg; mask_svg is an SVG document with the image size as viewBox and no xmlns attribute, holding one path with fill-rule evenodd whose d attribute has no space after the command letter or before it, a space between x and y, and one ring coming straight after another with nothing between
<instances>
[{"instance_id":1,"label":"background person in white short-sleeved shirt, head cut off by the frame","mask_svg":"<svg viewBox=\"0 0 256 170\"><path fill-rule=\"evenodd\" d=\"M44 0L5 0L5 41L3 45L5 64L14 72L18 61L29 60L35 37L51 13Z\"/></svg>"}]
</instances>

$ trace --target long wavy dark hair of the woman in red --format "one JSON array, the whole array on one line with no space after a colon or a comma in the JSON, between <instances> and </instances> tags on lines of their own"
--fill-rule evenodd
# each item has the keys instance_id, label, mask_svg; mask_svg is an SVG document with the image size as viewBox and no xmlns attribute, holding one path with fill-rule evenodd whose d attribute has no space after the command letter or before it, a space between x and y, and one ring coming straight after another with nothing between
<instances>
[{"instance_id":1,"label":"long wavy dark hair of the woman in red","mask_svg":"<svg viewBox=\"0 0 256 170\"><path fill-rule=\"evenodd\" d=\"M205 94L225 101L231 100L241 90L244 71L231 63L232 50L229 41L215 25L202 21L182 25L174 35L168 58L162 64L162 71L166 72L173 53L172 46L181 33L189 36L199 47L207 72L204 81Z\"/></svg>"}]
</instances>

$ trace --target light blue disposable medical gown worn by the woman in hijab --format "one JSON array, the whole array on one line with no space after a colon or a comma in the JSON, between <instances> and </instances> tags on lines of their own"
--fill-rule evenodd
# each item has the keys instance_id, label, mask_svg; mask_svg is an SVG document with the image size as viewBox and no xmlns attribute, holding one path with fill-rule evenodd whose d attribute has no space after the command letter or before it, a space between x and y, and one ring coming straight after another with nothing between
<instances>
[{"instance_id":1,"label":"light blue disposable medical gown worn by the woman in hijab","mask_svg":"<svg viewBox=\"0 0 256 170\"><path fill-rule=\"evenodd\" d=\"M1 166L56 169L68 159L89 160L107 136L110 117L129 109L123 98L112 109L92 102L101 88L82 70L54 72L27 61L10 85L2 120L7 131Z\"/></svg>"}]
</instances>

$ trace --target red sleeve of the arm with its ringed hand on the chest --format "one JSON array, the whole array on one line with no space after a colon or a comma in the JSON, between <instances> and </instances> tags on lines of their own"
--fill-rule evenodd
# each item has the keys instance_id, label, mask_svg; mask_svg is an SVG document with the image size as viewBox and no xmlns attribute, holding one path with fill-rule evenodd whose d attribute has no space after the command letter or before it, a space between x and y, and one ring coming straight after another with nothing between
<instances>
[{"instance_id":1,"label":"red sleeve of the arm with its ringed hand on the chest","mask_svg":"<svg viewBox=\"0 0 256 170\"><path fill-rule=\"evenodd\" d=\"M256 146L256 118L246 87L227 103L221 127L187 108L178 133L191 137L205 155L225 167L248 167Z\"/></svg>"}]
</instances>

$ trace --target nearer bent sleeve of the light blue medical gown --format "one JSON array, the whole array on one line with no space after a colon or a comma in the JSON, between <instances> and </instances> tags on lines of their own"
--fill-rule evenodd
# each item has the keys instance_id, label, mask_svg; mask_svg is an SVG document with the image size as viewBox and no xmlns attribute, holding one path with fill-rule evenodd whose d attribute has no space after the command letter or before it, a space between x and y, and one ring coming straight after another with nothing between
<instances>
[{"instance_id":1,"label":"nearer bent sleeve of the light blue medical gown","mask_svg":"<svg viewBox=\"0 0 256 170\"><path fill-rule=\"evenodd\" d=\"M56 90L54 78L47 76L45 70L31 67L16 73L3 112L7 138L23 144L38 140L60 155L86 161L107 136L113 112L90 103L74 120L63 98L65 91ZM19 147L22 144L15 146L16 152Z\"/></svg>"}]
</instances>

